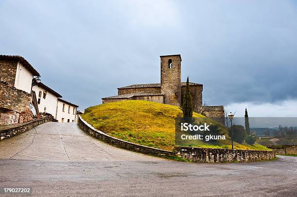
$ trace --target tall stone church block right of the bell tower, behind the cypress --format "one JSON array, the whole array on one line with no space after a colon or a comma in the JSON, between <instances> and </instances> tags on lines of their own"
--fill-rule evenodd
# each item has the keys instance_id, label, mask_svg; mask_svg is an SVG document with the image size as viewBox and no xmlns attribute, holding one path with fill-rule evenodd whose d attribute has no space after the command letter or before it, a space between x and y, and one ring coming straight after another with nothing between
<instances>
[{"instance_id":1,"label":"tall stone church block right of the bell tower, behind the cypress","mask_svg":"<svg viewBox=\"0 0 297 197\"><path fill-rule=\"evenodd\" d=\"M183 101L183 95L185 92L185 86L181 86L181 104ZM190 86L190 92L192 96L193 108L198 113L202 112L202 86Z\"/></svg>"}]
</instances>

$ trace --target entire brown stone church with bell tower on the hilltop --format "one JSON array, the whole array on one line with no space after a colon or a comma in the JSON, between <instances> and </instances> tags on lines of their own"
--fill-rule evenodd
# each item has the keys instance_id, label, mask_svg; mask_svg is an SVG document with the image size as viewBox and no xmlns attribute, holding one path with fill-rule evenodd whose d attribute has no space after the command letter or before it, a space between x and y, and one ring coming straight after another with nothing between
<instances>
[{"instance_id":1,"label":"entire brown stone church with bell tower on the hilltop","mask_svg":"<svg viewBox=\"0 0 297 197\"><path fill-rule=\"evenodd\" d=\"M181 82L181 55L165 55L161 58L161 83L135 84L118 88L117 96L102 98L102 103L146 100L181 106L185 82ZM223 106L202 106L203 85L189 82L194 110L211 118L223 118Z\"/></svg>"}]
</instances>

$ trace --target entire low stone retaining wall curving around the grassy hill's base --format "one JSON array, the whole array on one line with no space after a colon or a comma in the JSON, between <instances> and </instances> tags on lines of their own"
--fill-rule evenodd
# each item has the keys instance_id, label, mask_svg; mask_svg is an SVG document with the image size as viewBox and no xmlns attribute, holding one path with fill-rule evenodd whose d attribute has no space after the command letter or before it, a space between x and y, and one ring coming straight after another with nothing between
<instances>
[{"instance_id":1,"label":"entire low stone retaining wall curving around the grassy hill's base","mask_svg":"<svg viewBox=\"0 0 297 197\"><path fill-rule=\"evenodd\" d=\"M112 136L109 136L84 121L81 116L78 120L79 127L91 136L99 138L108 144L119 148L128 149L135 152L178 156L194 162L252 162L271 160L275 157L274 151L251 151L251 150L235 150L235 149L210 149L198 147L181 147L175 146L176 152L165 151L161 149L151 148L132 142L124 141Z\"/></svg>"}]
</instances>

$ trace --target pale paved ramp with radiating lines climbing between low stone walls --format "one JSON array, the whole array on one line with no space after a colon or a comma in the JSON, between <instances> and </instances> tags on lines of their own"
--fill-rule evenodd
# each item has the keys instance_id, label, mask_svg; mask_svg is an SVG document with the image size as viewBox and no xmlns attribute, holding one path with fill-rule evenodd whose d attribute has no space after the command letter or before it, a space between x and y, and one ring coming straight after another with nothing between
<instances>
[{"instance_id":1,"label":"pale paved ramp with radiating lines climbing between low stone walls","mask_svg":"<svg viewBox=\"0 0 297 197\"><path fill-rule=\"evenodd\" d=\"M0 159L126 161L160 158L118 149L84 133L76 123L46 122L0 141Z\"/></svg>"}]
</instances>

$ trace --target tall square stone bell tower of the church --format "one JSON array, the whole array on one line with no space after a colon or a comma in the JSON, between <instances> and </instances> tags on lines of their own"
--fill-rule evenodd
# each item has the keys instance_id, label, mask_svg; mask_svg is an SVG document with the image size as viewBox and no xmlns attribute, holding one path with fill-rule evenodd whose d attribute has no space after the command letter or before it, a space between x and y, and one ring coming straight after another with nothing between
<instances>
[{"instance_id":1,"label":"tall square stone bell tower of the church","mask_svg":"<svg viewBox=\"0 0 297 197\"><path fill-rule=\"evenodd\" d=\"M168 61L172 67L168 67ZM161 93L164 103L173 106L181 105L181 57L179 55L161 57Z\"/></svg>"}]
</instances>

